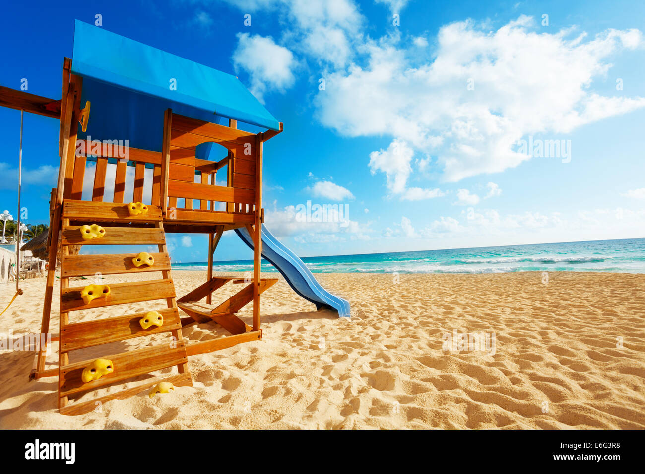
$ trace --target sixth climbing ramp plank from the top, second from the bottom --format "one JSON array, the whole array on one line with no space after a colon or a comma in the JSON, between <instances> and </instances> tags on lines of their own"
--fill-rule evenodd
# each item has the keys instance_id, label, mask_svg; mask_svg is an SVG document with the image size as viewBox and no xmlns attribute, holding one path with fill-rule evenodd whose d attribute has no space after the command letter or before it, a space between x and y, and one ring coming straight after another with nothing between
<instances>
[{"instance_id":1,"label":"sixth climbing ramp plank from the top, second from the bottom","mask_svg":"<svg viewBox=\"0 0 645 474\"><path fill-rule=\"evenodd\" d=\"M183 341L177 341L176 347L160 344L115 355L105 355L96 359L112 360L114 371L103 375L98 380L83 383L83 369L95 359L84 360L75 364L62 366L59 371L59 397L70 397L75 393L96 390L97 388L132 379L139 375L185 364L188 362Z\"/></svg>"}]
</instances>

